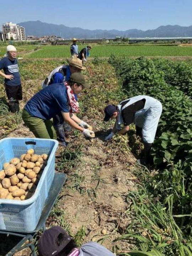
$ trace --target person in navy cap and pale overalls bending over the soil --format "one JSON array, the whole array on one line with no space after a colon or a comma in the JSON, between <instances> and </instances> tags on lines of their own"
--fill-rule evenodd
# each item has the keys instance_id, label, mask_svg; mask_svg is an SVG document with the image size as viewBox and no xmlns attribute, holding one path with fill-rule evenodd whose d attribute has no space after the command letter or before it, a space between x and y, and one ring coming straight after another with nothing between
<instances>
[{"instance_id":1,"label":"person in navy cap and pale overalls bending over the soil","mask_svg":"<svg viewBox=\"0 0 192 256\"><path fill-rule=\"evenodd\" d=\"M139 95L120 102L118 106L108 105L104 112L104 121L116 119L112 132L105 140L111 139L115 133L125 134L129 130L129 124L135 123L136 134L142 137L144 143L145 156L137 162L141 165L149 164L150 150L162 112L161 102L150 96ZM122 129L121 124L124 125Z\"/></svg>"}]
</instances>

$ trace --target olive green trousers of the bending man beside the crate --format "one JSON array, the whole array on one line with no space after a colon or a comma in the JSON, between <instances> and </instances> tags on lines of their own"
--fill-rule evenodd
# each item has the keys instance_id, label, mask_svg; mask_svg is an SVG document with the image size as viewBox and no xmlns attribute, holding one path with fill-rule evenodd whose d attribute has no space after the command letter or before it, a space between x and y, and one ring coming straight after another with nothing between
<instances>
[{"instance_id":1,"label":"olive green trousers of the bending man beside the crate","mask_svg":"<svg viewBox=\"0 0 192 256\"><path fill-rule=\"evenodd\" d=\"M50 120L32 117L25 108L23 109L22 119L36 138L57 139L57 134Z\"/></svg>"}]
</instances>

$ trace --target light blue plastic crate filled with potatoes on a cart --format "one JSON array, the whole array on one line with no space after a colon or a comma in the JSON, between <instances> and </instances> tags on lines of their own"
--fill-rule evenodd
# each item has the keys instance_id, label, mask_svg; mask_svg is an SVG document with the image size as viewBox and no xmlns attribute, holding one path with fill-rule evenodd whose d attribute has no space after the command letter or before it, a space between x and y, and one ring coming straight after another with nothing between
<instances>
[{"instance_id":1,"label":"light blue plastic crate filled with potatoes on a cart","mask_svg":"<svg viewBox=\"0 0 192 256\"><path fill-rule=\"evenodd\" d=\"M55 172L53 139L0 140L0 229L33 231Z\"/></svg>"}]
</instances>

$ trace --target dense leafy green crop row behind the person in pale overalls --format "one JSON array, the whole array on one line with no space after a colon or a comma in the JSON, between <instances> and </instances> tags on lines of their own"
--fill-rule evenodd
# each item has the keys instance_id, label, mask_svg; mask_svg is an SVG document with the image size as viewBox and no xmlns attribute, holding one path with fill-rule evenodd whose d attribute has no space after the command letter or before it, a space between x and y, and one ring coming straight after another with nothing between
<instances>
[{"instance_id":1,"label":"dense leafy green crop row behind the person in pale overalls","mask_svg":"<svg viewBox=\"0 0 192 256\"><path fill-rule=\"evenodd\" d=\"M192 152L191 99L167 84L164 71L160 66L156 68L152 59L111 57L109 62L121 78L127 97L149 95L162 103L163 111L154 142L154 162L189 159Z\"/></svg>"}]
</instances>

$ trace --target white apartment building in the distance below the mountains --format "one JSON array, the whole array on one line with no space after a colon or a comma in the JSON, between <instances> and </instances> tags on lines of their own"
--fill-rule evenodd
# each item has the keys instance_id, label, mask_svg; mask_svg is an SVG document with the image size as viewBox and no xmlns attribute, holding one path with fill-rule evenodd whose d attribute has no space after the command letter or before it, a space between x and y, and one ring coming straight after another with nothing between
<instances>
[{"instance_id":1,"label":"white apartment building in the distance below the mountains","mask_svg":"<svg viewBox=\"0 0 192 256\"><path fill-rule=\"evenodd\" d=\"M15 23L6 22L5 24L3 24L2 32L4 33L5 38L8 40L10 40L11 37L17 41L25 41L26 40L25 28L18 26Z\"/></svg>"}]
</instances>

